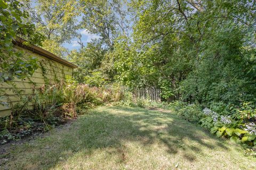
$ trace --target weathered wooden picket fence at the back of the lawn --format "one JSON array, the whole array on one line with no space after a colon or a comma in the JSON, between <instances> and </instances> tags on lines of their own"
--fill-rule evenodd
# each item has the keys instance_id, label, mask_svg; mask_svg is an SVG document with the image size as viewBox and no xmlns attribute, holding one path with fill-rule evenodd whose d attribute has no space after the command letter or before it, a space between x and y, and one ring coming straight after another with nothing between
<instances>
[{"instance_id":1,"label":"weathered wooden picket fence at the back of the lawn","mask_svg":"<svg viewBox=\"0 0 256 170\"><path fill-rule=\"evenodd\" d=\"M161 90L156 88L140 88L133 92L135 98L149 99L150 101L161 101Z\"/></svg>"}]
</instances>

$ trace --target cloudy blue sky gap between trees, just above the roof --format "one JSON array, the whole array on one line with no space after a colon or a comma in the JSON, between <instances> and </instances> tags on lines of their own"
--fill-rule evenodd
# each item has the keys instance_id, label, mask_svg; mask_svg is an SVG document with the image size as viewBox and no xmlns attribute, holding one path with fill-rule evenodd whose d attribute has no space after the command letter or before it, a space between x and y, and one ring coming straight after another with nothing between
<instances>
[{"instance_id":1,"label":"cloudy blue sky gap between trees, just above the roof","mask_svg":"<svg viewBox=\"0 0 256 170\"><path fill-rule=\"evenodd\" d=\"M89 43L92 39L100 38L100 36L98 36L98 35L89 33L89 31L87 31L86 29L80 29L77 32L82 35L81 40L82 40L82 43L84 44L84 46L86 46L87 43ZM73 39L73 40L71 40L71 43L64 43L63 46L65 48L68 48L69 50L79 49L80 45L77 43L77 40L78 39Z\"/></svg>"}]
</instances>

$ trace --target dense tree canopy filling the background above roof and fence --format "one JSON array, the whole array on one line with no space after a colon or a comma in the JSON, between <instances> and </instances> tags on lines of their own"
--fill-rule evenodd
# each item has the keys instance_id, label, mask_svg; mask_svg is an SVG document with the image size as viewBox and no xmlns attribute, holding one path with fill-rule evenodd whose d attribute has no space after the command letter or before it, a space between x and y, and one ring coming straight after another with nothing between
<instances>
[{"instance_id":1,"label":"dense tree canopy filling the background above roof and fence","mask_svg":"<svg viewBox=\"0 0 256 170\"><path fill-rule=\"evenodd\" d=\"M3 13L15 8L18 18L10 11L11 19L34 23L46 37L43 48L79 66L74 75L81 83L156 87L166 100L255 101L255 1L11 2L17 1L1 1ZM8 22L12 35L22 30ZM84 45L81 29L99 38ZM62 46L74 39L81 48Z\"/></svg>"}]
</instances>

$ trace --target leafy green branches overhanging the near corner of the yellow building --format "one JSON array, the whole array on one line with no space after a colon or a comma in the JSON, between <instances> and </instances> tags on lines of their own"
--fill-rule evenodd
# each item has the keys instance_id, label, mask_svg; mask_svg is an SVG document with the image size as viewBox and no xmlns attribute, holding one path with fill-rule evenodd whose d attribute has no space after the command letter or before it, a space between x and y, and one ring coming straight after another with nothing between
<instances>
[{"instance_id":1,"label":"leafy green branches overhanging the near corner of the yellow building","mask_svg":"<svg viewBox=\"0 0 256 170\"><path fill-rule=\"evenodd\" d=\"M27 40L27 44L40 44L43 36L23 19L28 13L21 10L22 4L15 0L0 0L0 82L8 82L15 77L24 79L37 69L36 58L23 58L22 51L15 51L13 41L17 36Z\"/></svg>"}]
</instances>

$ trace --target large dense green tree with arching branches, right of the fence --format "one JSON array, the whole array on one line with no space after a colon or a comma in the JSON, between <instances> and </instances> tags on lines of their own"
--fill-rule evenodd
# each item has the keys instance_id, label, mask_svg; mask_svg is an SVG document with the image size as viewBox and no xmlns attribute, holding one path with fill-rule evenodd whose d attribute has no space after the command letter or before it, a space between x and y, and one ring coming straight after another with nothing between
<instances>
[{"instance_id":1,"label":"large dense green tree with arching branches, right of the fence","mask_svg":"<svg viewBox=\"0 0 256 170\"><path fill-rule=\"evenodd\" d=\"M175 97L201 102L253 96L254 1L132 1L131 6L137 14L135 50L145 54L138 56L143 65L156 70L145 86L165 82Z\"/></svg>"}]
</instances>

